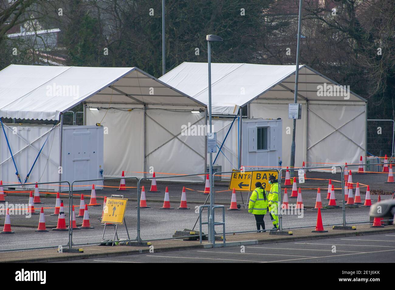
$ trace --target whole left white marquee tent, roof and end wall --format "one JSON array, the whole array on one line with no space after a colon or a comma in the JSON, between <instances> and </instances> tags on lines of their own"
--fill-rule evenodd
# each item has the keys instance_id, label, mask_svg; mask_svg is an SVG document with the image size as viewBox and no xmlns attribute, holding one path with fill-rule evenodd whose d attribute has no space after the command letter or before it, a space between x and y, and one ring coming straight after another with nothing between
<instances>
[{"instance_id":1,"label":"whole left white marquee tent, roof and end wall","mask_svg":"<svg viewBox=\"0 0 395 290\"><path fill-rule=\"evenodd\" d=\"M181 126L204 124L205 114L192 111L205 112L205 104L138 68L10 65L0 72L2 118L60 120L62 138L63 113L81 102L87 104L85 124L105 127L104 176L120 176L122 170L141 176L151 167L204 170L205 137L182 136ZM43 142L30 146L38 151ZM34 158L27 156L21 166L30 167Z\"/></svg>"}]
</instances>

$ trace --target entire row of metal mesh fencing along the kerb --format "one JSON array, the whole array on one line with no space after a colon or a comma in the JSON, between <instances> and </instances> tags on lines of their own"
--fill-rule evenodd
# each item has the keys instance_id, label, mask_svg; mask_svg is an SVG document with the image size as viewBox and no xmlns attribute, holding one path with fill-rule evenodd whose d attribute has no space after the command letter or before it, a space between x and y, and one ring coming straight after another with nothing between
<instances>
[{"instance_id":1,"label":"entire row of metal mesh fencing along the kerb","mask_svg":"<svg viewBox=\"0 0 395 290\"><path fill-rule=\"evenodd\" d=\"M388 163L395 165L395 162ZM381 195L382 200L391 198L394 191L393 183L386 183L388 179L387 172L372 172L366 171L368 166L382 164L362 164L363 173L358 173L359 165L348 165L347 173L352 172L353 194L355 198L355 188L358 185L361 202L365 201L367 186L370 186L371 201L377 201L378 194ZM289 169L291 170L291 169ZM295 176L297 176L297 168ZM347 199L344 198L348 193L349 188L345 188L344 166L333 167L308 167L305 168L306 178L305 183L299 183L296 178L296 189L301 190L301 197L303 200L303 211L279 210L280 229L293 228L308 228L316 225L316 205L317 190L320 188L320 196L322 200L322 220L324 226L331 225L346 225L359 224L370 222L369 207L352 207L347 205ZM278 196L278 209L281 208L284 198L284 191L287 190L288 202L290 205L297 203L297 198L291 197L292 184L285 185L286 169L280 171L276 169L261 169L259 171L268 171L269 173L278 174L280 177L280 193ZM380 167L382 171L382 167ZM255 173L254 173L255 172ZM216 172L213 174L213 179L220 177L220 181L214 181L214 205L224 205L226 209L229 208L232 198L232 190L229 189L229 181L232 174L256 174L256 171L230 171L230 172ZM34 204L36 212L39 212L41 206L43 207L45 222L49 232L34 232L38 227L40 215L30 215L26 218L28 206L28 196L30 191L34 195L35 184L8 184L0 186L6 196L6 203L2 210L12 205L22 204L19 209L19 214L11 212L11 228L15 234L5 235L1 234L0 251L9 250L26 250L26 249L44 249L55 248L59 245L63 247L79 246L79 245L97 245L102 240L112 240L114 238L115 228L113 226L106 226L106 232L103 235L103 223L100 218L103 211L103 198L112 195L123 195L128 198L128 204L125 212L125 222L119 225L117 229L119 239L124 241L154 241L163 239L173 239L175 237L199 237L199 206L209 204L209 194L205 192L205 182L207 173L198 173L192 175L173 175L156 177L156 189L153 183L153 177L146 177L138 179L137 177L125 177L126 190L118 191L121 177L109 179L91 179L73 181L70 185L68 182L53 182L53 183L38 183L38 191L40 192L41 202L43 204ZM267 177L262 177L264 186ZM265 179L266 178L266 179ZM328 207L329 200L327 197L329 188L329 180L331 181L330 189L332 189L336 198L335 207ZM254 181L252 181L254 182ZM249 182L248 182L249 183ZM293 183L293 180L290 180ZM95 186L96 203L92 203L92 186ZM241 184L243 187L243 184ZM181 202L183 188L185 189L186 205ZM144 189L144 196L147 207L140 207L142 197L142 190ZM165 195L165 192L168 195ZM233 233L247 233L256 232L256 223L254 216L248 213L248 200L254 188L248 188L248 191L236 191L237 207L239 210L225 210L225 234ZM67 230L54 231L58 222L58 215L55 213L55 202L57 192L59 192L60 199L64 203L64 213L66 216ZM73 205L75 215L79 214L81 194L85 196L85 203L92 204L88 207L90 229L70 229L70 218L72 216ZM295 192L294 192L295 195ZM296 193L297 196L297 193ZM166 199L166 202L164 200ZM169 201L167 203L167 200ZM181 204L182 203L182 204ZM96 206L95 206L96 205ZM170 209L161 208L170 207ZM187 207L187 209L179 209ZM4 217L5 212L3 213ZM205 217L204 211L203 217ZM2 217L2 220L4 218ZM215 213L215 220L222 220L222 212ZM265 229L271 230L272 221L269 213L265 215ZM76 218L76 225L82 225L83 218ZM204 224L203 224L204 225ZM175 231L180 231L176 234ZM203 237L208 234L208 226L203 227ZM215 234L222 235L224 231L222 227L214 229ZM182 235L185 231L195 231L195 235ZM180 234L181 233L181 234ZM23 238L21 238L23 236Z\"/></svg>"}]
</instances>

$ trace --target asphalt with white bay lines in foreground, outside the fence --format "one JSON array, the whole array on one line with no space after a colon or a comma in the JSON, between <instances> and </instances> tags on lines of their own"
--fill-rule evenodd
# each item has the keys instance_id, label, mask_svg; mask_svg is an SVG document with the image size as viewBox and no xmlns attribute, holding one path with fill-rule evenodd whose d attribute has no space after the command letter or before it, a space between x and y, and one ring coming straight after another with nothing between
<instances>
[{"instance_id":1,"label":"asphalt with white bay lines in foreground, outside the fence","mask_svg":"<svg viewBox=\"0 0 395 290\"><path fill-rule=\"evenodd\" d=\"M244 252L243 248L244 247ZM391 263L395 234L90 258L70 263Z\"/></svg>"}]
</instances>

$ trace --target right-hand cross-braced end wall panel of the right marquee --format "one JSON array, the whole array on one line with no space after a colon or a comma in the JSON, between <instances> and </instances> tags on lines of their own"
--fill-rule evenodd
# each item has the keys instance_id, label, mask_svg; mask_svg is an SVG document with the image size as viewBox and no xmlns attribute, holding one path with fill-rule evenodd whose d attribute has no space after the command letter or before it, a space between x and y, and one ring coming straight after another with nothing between
<instances>
[{"instance_id":1,"label":"right-hand cross-braced end wall panel of the right marquee","mask_svg":"<svg viewBox=\"0 0 395 290\"><path fill-rule=\"evenodd\" d=\"M359 163L366 149L365 103L308 108L308 166Z\"/></svg>"}]
</instances>

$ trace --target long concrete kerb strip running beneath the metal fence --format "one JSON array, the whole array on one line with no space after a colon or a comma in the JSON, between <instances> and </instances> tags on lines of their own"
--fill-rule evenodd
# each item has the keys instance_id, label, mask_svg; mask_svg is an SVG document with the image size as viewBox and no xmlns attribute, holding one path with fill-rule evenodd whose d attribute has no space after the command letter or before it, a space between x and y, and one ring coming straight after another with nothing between
<instances>
[{"instance_id":1,"label":"long concrete kerb strip running beneath the metal fence","mask_svg":"<svg viewBox=\"0 0 395 290\"><path fill-rule=\"evenodd\" d=\"M328 227L328 229L330 229ZM301 235L301 236L288 236L288 237L273 237L271 236L270 239L267 239L263 236L262 238L258 239L248 239L246 241L229 241L226 243L227 246L239 246L239 245L254 245L254 244L267 244L267 243L281 243L281 242L289 242L289 241L308 241L308 240L318 240L318 239L325 239L325 238L336 238L336 237L350 237L350 236L359 236L359 235L373 235L373 234L385 234L385 233L392 233L395 232L395 226L386 226L386 228L377 228L377 229L370 229L370 230L357 230L357 231L344 231L342 233L332 232L330 229L329 233L322 233L322 234L311 234L311 235ZM294 234L298 234L298 232L294 232ZM241 234L241 235L248 235L248 234ZM251 235L246 236L246 238L251 237ZM240 237L237 237L238 239ZM188 241L188 242L181 242L187 243L189 245L174 245L169 247L155 247L154 252L169 252L169 251L176 251L176 250L192 250L192 249L204 249L207 247L212 247L212 244L199 244L198 241ZM222 244L218 244L222 245ZM155 245L154 245L155 246ZM81 254L73 254L73 253L62 253L59 254L56 252L55 249L48 250L46 253L42 253L39 250L34 250L30 252L3 252L2 257L0 257L0 262L3 263L42 263L42 262L59 262L59 261L67 261L67 260L78 260L78 259L88 259L88 258L105 258L105 257L114 257L114 256L121 256L121 255L134 255L134 254L148 254L150 253L150 249L144 247L143 249L139 249L137 247L126 247L126 249L119 249L122 246L115 246L115 247L86 247L84 248L84 253ZM98 251L100 250L100 252ZM105 250L105 252L103 252ZM49 252L51 251L51 252ZM17 254L16 254L17 253ZM21 258L15 257L20 255ZM31 258L26 258L31 254ZM9 256L9 257L7 257ZM34 257L36 256L36 257ZM46 256L46 257L45 257ZM39 258L38 258L39 257Z\"/></svg>"}]
</instances>

